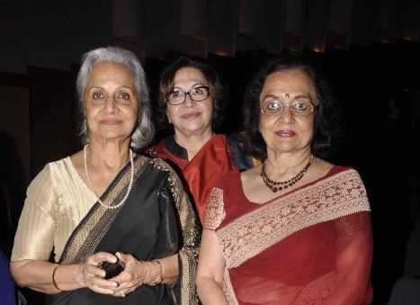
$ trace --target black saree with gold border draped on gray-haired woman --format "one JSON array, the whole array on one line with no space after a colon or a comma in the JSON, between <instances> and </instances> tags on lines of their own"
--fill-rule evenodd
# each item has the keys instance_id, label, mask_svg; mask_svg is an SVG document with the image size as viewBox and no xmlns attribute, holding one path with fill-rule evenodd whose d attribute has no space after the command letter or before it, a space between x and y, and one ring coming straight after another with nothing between
<instances>
[{"instance_id":1,"label":"black saree with gold border draped on gray-haired woman","mask_svg":"<svg viewBox=\"0 0 420 305\"><path fill-rule=\"evenodd\" d=\"M83 263L100 251L129 253L140 261L162 258L157 253L161 231L159 204L170 194L178 217L179 232L174 234L180 234L180 245L174 251L179 257L179 277L175 288L169 289L165 284L142 285L126 298L82 288L49 295L49 304L172 304L172 292L177 304L197 303L195 270L200 233L191 203L183 192L183 184L161 159L136 156L134 167L134 183L127 201L116 209L107 209L96 202L68 238L59 264ZM110 206L117 205L127 192L129 182L130 165L115 177L101 200Z\"/></svg>"}]
</instances>

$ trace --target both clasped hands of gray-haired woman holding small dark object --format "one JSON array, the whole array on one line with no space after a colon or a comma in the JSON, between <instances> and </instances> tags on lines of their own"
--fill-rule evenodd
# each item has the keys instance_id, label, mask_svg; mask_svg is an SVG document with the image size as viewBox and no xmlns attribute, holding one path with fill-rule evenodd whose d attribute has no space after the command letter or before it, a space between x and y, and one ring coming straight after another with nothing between
<instances>
[{"instance_id":1,"label":"both clasped hands of gray-haired woman holding small dark object","mask_svg":"<svg viewBox=\"0 0 420 305\"><path fill-rule=\"evenodd\" d=\"M109 280L105 280L105 271L99 267L103 261L115 263L117 257L125 264L125 270ZM137 260L130 254L121 252L115 256L107 252L98 252L90 256L85 264L80 265L77 281L94 292L125 297L137 290L143 283L150 282L156 266L152 262Z\"/></svg>"}]
</instances>

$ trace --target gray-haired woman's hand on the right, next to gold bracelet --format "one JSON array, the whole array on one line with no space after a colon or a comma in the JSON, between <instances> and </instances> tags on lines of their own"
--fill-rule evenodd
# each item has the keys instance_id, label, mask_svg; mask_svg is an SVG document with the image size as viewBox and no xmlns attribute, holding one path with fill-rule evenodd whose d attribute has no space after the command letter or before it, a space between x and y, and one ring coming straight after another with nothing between
<instances>
[{"instance_id":1,"label":"gray-haired woman's hand on the right, next to gold bracelet","mask_svg":"<svg viewBox=\"0 0 420 305\"><path fill-rule=\"evenodd\" d=\"M111 279L119 284L112 295L124 297L137 290L145 282L154 266L153 263L139 261L130 254L117 252L115 255L125 264L125 270Z\"/></svg>"}]
</instances>

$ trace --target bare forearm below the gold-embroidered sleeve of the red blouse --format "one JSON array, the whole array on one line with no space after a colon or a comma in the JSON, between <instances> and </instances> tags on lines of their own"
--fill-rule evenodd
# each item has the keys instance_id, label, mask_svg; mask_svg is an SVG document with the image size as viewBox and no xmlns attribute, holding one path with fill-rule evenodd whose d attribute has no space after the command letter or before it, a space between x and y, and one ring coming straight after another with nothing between
<instances>
[{"instance_id":1,"label":"bare forearm below the gold-embroidered sleeve of the red blouse","mask_svg":"<svg viewBox=\"0 0 420 305\"><path fill-rule=\"evenodd\" d=\"M216 232L212 229L203 229L197 271L197 292L203 305L228 305L221 289L224 270L225 258Z\"/></svg>"}]
</instances>

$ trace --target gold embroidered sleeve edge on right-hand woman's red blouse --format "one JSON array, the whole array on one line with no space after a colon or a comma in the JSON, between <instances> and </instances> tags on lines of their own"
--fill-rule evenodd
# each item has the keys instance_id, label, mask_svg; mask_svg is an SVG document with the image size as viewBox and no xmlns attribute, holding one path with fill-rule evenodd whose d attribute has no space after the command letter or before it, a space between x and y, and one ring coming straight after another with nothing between
<instances>
[{"instance_id":1,"label":"gold embroidered sleeve edge on right-hand woman's red blouse","mask_svg":"<svg viewBox=\"0 0 420 305\"><path fill-rule=\"evenodd\" d=\"M226 211L223 205L223 190L214 187L209 196L209 203L204 212L204 224L206 229L219 228L220 223L225 219Z\"/></svg>"}]
</instances>

